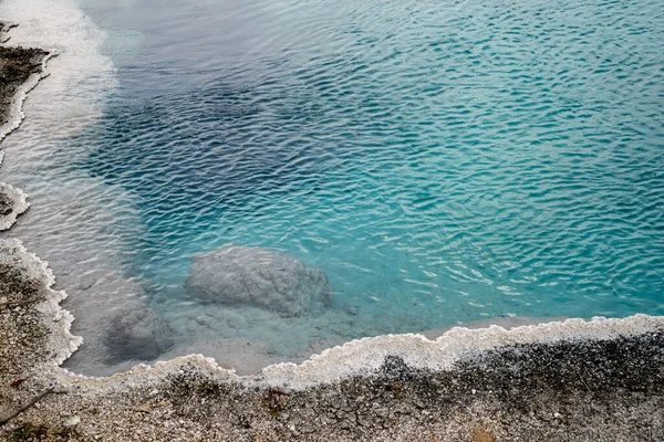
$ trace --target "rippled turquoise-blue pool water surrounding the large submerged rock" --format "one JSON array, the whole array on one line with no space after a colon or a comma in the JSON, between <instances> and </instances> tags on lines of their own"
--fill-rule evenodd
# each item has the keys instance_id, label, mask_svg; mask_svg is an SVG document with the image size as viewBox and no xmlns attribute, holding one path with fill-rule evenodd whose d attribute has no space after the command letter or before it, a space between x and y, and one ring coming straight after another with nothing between
<instances>
[{"instance_id":1,"label":"rippled turquoise-blue pool water surrounding the large submerged rock","mask_svg":"<svg viewBox=\"0 0 664 442\"><path fill-rule=\"evenodd\" d=\"M664 314L660 1L218 3L85 0L120 86L62 145L60 178L132 200L110 235L169 356ZM189 298L227 243L323 269L331 311Z\"/></svg>"}]
</instances>

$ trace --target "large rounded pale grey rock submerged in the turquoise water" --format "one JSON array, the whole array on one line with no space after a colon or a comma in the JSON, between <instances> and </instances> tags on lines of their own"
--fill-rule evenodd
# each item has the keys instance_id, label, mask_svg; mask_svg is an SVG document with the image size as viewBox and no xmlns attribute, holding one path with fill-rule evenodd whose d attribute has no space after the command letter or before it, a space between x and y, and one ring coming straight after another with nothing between
<instances>
[{"instance_id":1,"label":"large rounded pale grey rock submerged in the turquoise water","mask_svg":"<svg viewBox=\"0 0 664 442\"><path fill-rule=\"evenodd\" d=\"M325 273L289 254L261 248L224 245L194 255L187 292L228 305L252 305L284 316L330 306Z\"/></svg>"}]
</instances>

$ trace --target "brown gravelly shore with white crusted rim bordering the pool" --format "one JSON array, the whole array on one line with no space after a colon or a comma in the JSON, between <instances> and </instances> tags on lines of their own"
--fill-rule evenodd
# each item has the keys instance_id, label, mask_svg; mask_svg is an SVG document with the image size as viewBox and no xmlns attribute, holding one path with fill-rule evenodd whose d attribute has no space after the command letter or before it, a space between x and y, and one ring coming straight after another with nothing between
<instances>
[{"instance_id":1,"label":"brown gravelly shore with white crusted rim bordering the pool","mask_svg":"<svg viewBox=\"0 0 664 442\"><path fill-rule=\"evenodd\" d=\"M48 75L40 53L6 105L13 128ZM12 224L27 199L3 186ZM664 317L378 336L257 376L190 355L92 378L61 367L82 339L54 281L20 241L0 240L0 421L46 392L0 440L664 439Z\"/></svg>"}]
</instances>

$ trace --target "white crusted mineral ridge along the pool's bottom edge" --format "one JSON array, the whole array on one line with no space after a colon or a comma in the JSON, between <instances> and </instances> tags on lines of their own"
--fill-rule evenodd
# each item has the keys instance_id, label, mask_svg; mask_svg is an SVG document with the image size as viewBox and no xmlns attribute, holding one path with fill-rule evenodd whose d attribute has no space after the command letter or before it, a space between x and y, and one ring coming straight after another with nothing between
<instances>
[{"instance_id":1,"label":"white crusted mineral ridge along the pool's bottom edge","mask_svg":"<svg viewBox=\"0 0 664 442\"><path fill-rule=\"evenodd\" d=\"M422 335L385 335L363 338L342 346L326 349L305 362L278 364L266 367L262 373L240 377L235 370L219 367L212 358L189 355L153 366L137 365L132 370L108 378L94 378L74 375L64 369L60 373L61 383L76 385L79 388L113 388L158 382L167 375L181 373L185 366L207 373L219 381L235 381L247 387L278 387L304 390L319 385L333 383L353 376L371 376L384 364L388 356L403 358L413 368L433 371L453 369L453 364L468 354L497 349L509 345L537 343L606 340L619 337L637 336L654 329L664 328L664 317L635 315L622 319L595 317L591 320L567 319L548 324L529 325L505 329L490 326L483 329L455 327L435 340Z\"/></svg>"}]
</instances>

